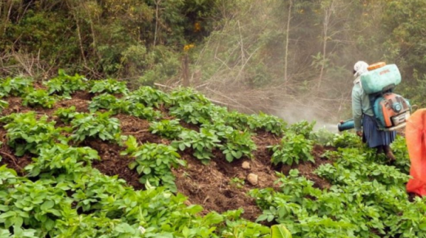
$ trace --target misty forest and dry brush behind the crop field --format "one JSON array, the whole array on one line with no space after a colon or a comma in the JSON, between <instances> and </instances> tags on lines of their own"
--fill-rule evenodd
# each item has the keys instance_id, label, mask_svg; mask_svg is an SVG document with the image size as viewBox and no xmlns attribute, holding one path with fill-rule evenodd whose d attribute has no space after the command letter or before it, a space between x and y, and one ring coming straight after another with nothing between
<instances>
[{"instance_id":1,"label":"misty forest and dry brush behind the crop field","mask_svg":"<svg viewBox=\"0 0 426 238\"><path fill-rule=\"evenodd\" d=\"M426 0L1 0L0 78L192 86L326 125L351 117L358 60L397 64L397 92L426 106L425 19Z\"/></svg>"}]
</instances>

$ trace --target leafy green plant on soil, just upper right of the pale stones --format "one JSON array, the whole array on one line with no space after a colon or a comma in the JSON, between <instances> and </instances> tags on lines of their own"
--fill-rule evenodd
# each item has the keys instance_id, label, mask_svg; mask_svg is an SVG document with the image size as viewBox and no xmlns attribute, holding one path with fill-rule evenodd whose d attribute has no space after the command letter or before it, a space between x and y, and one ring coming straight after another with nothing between
<instances>
[{"instance_id":1,"label":"leafy green plant on soil, just upper right of the pale stones","mask_svg":"<svg viewBox=\"0 0 426 238\"><path fill-rule=\"evenodd\" d=\"M271 147L273 154L271 162L273 164L299 164L303 162L315 162L312 157L312 141L305 139L304 135L286 134L280 145Z\"/></svg>"}]
</instances>

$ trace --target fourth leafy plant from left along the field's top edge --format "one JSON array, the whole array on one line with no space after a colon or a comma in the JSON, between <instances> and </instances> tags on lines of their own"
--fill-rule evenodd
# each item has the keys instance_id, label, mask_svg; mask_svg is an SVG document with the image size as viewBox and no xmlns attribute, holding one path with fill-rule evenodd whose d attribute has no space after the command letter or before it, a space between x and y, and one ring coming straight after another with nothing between
<instances>
[{"instance_id":1,"label":"fourth leafy plant from left along the field's top edge","mask_svg":"<svg viewBox=\"0 0 426 238\"><path fill-rule=\"evenodd\" d=\"M132 103L142 103L144 106L160 108L163 104L169 103L170 99L168 94L163 91L153 89L150 86L140 87L136 91L132 91L126 97L126 101Z\"/></svg>"}]
</instances>

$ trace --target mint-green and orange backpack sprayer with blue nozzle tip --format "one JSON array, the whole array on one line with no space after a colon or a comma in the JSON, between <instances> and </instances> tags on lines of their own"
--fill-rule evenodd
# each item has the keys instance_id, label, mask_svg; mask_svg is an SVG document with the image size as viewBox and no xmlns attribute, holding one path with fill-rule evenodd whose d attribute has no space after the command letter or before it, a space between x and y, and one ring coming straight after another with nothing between
<instances>
[{"instance_id":1,"label":"mint-green and orange backpack sprayer with blue nozzle tip","mask_svg":"<svg viewBox=\"0 0 426 238\"><path fill-rule=\"evenodd\" d=\"M368 67L368 72L361 74L361 86L370 99L378 130L393 131L405 128L411 106L403 96L393 94L393 89L400 82L401 74L395 64L372 64ZM339 132L354 127L354 119L337 125Z\"/></svg>"}]
</instances>

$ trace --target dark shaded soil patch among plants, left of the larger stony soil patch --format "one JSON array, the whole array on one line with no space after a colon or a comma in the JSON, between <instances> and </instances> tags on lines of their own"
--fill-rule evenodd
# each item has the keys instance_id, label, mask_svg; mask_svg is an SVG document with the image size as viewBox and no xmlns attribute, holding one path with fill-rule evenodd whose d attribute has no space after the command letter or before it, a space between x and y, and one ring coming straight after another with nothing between
<instances>
[{"instance_id":1,"label":"dark shaded soil patch among plants, left of the larger stony soil patch","mask_svg":"<svg viewBox=\"0 0 426 238\"><path fill-rule=\"evenodd\" d=\"M130 186L135 189L143 189L142 183L139 183L139 175L136 171L129 169L129 164L134 159L120 155L120 152L125 148L119 147L113 143L103 142L102 140L86 140L85 144L92 149L96 149L100 161L94 161L92 166L102 174L108 176L119 176L120 179L124 179Z\"/></svg>"}]
</instances>

